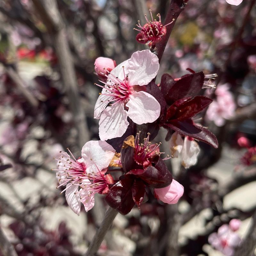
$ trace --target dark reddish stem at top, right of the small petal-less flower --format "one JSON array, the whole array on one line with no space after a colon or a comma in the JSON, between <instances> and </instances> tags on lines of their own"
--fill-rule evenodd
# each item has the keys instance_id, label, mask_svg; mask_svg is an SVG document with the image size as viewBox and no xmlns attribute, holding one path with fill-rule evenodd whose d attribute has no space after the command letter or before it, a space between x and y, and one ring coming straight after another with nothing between
<instances>
[{"instance_id":1,"label":"dark reddish stem at top, right of the small petal-less flower","mask_svg":"<svg viewBox=\"0 0 256 256\"><path fill-rule=\"evenodd\" d=\"M182 12L184 10L185 5L187 1L183 1L183 0L171 0L171 3L169 5L169 8L167 10L167 14L164 20L164 25L172 22L173 19L175 19L172 24L168 25L166 27L166 35L164 37L164 39L156 45L156 55L158 57L159 63L162 59L163 53L164 53L164 49L165 46L168 42L169 36L171 35L172 32L172 28L174 27L174 24L177 20L177 18L180 15L180 12Z\"/></svg>"}]
</instances>

